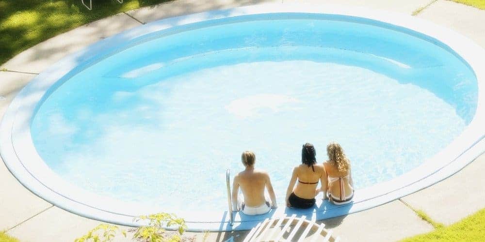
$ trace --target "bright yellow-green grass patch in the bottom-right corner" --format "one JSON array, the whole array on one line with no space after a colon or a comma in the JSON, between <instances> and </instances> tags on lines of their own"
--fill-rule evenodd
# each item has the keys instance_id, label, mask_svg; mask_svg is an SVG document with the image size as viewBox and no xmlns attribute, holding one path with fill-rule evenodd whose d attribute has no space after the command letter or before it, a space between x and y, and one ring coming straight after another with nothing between
<instances>
[{"instance_id":1,"label":"bright yellow-green grass patch in the bottom-right corner","mask_svg":"<svg viewBox=\"0 0 485 242\"><path fill-rule=\"evenodd\" d=\"M455 241L484 241L485 238L485 209L466 217L451 226L441 226L434 231L415 237L404 239L403 242L455 242Z\"/></svg>"}]
</instances>

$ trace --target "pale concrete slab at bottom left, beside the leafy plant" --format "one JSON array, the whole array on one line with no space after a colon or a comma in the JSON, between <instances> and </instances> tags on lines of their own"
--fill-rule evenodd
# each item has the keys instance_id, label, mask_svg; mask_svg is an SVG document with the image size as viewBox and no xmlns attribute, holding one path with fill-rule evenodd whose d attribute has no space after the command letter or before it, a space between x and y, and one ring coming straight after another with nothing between
<instances>
[{"instance_id":1,"label":"pale concrete slab at bottom left, beside the leafy plant","mask_svg":"<svg viewBox=\"0 0 485 242\"><path fill-rule=\"evenodd\" d=\"M74 241L101 223L66 212L58 207L52 207L7 231L7 234L22 242L66 242ZM120 228L128 229L129 227L120 226ZM129 236L124 238L121 234L116 235L115 241L132 242Z\"/></svg>"}]
</instances>

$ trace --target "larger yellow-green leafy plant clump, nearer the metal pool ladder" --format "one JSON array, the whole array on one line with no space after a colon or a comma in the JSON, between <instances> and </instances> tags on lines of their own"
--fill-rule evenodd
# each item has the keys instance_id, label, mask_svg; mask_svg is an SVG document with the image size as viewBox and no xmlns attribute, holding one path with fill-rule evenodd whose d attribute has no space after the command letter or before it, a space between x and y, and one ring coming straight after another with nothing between
<instances>
[{"instance_id":1,"label":"larger yellow-green leafy plant clump, nearer the metal pool ladder","mask_svg":"<svg viewBox=\"0 0 485 242\"><path fill-rule=\"evenodd\" d=\"M160 212L150 215L142 215L136 217L134 221L144 220L148 222L148 226L141 226L134 229L133 239L143 242L180 242L181 235L187 229L185 225L185 220L183 218L178 218L173 213ZM166 227L177 227L178 234L168 236L165 233Z\"/></svg>"}]
</instances>

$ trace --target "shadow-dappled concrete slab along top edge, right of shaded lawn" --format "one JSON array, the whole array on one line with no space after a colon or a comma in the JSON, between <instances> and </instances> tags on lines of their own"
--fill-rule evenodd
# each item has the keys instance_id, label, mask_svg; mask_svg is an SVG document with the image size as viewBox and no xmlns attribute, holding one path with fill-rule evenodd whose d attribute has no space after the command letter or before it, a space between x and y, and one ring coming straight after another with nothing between
<instances>
[{"instance_id":1,"label":"shadow-dappled concrete slab along top edge, right of shaded lawn","mask_svg":"<svg viewBox=\"0 0 485 242\"><path fill-rule=\"evenodd\" d=\"M271 2L281 3L282 0L175 0L130 10L127 14L143 23L148 23L167 17Z\"/></svg>"}]
</instances>

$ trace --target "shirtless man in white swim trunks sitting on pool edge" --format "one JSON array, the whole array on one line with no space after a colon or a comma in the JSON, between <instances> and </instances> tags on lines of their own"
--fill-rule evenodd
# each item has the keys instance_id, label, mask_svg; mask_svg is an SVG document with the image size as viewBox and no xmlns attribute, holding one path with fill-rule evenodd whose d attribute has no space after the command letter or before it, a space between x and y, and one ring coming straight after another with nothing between
<instances>
[{"instance_id":1,"label":"shirtless man in white swim trunks sitting on pool edge","mask_svg":"<svg viewBox=\"0 0 485 242\"><path fill-rule=\"evenodd\" d=\"M252 151L244 151L241 155L242 164L246 167L234 177L232 184L232 210L242 211L246 215L258 215L277 208L276 196L267 172L255 169L256 156ZM239 187L242 195L238 196ZM271 202L264 194L268 189Z\"/></svg>"}]
</instances>

